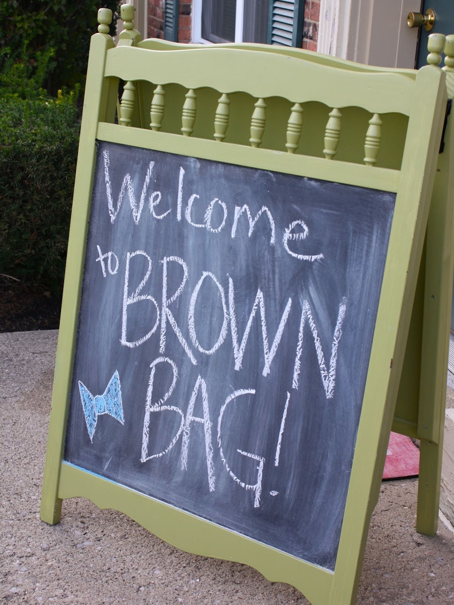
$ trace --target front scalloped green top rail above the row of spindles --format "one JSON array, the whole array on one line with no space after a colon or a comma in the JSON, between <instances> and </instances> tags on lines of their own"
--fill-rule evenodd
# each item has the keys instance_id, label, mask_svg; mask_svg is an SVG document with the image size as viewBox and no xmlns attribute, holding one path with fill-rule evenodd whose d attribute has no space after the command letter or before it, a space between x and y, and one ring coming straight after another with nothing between
<instances>
[{"instance_id":1,"label":"front scalloped green top rail above the row of spindles","mask_svg":"<svg viewBox=\"0 0 454 605\"><path fill-rule=\"evenodd\" d=\"M410 114L415 82L404 75L350 73L260 52L254 53L254 69L249 70L250 57L248 51L223 48L166 52L117 47L107 51L104 75L161 85L177 82L188 90L210 87L227 94L242 91L255 98L279 96L293 103L361 106L372 114ZM383 90L389 93L384 96Z\"/></svg>"}]
</instances>

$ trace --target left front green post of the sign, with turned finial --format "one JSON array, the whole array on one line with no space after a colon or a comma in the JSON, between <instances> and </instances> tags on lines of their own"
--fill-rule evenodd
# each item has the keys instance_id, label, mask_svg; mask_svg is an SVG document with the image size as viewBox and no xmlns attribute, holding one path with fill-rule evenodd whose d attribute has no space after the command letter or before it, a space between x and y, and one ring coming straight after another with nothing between
<instances>
[{"instance_id":1,"label":"left front green post of the sign, with turned finial","mask_svg":"<svg viewBox=\"0 0 454 605\"><path fill-rule=\"evenodd\" d=\"M84 269L85 249L81 246L81 241L85 241L87 237L90 208L87 208L86 200L90 199L96 159L96 128L97 122L105 119L108 106L110 106L111 113L112 106L103 81L106 52L108 48L114 47L113 39L108 35L108 25L111 20L112 11L108 8L100 8L98 12L99 33L94 34L91 38L90 58L88 59L84 116L82 118L79 154L77 156L65 287L41 497L41 518L51 524L58 523L61 517L62 501L58 498L59 474L76 342L81 276ZM102 100L104 100L104 103L102 103Z\"/></svg>"}]
</instances>

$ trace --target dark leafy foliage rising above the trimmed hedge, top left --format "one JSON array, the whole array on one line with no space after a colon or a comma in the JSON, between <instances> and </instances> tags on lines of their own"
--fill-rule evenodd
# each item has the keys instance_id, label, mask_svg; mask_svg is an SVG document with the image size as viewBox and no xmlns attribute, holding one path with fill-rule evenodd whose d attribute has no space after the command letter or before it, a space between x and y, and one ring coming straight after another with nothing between
<instances>
[{"instance_id":1,"label":"dark leafy foliage rising above the trimmed hedge, top left","mask_svg":"<svg viewBox=\"0 0 454 605\"><path fill-rule=\"evenodd\" d=\"M116 31L118 0L2 0L0 2L1 62L24 60L33 67L36 53L52 48L54 55L47 65L48 93L56 94L62 86L84 82L87 73L90 36L97 31L97 10L110 8L114 13L111 34Z\"/></svg>"}]
</instances>

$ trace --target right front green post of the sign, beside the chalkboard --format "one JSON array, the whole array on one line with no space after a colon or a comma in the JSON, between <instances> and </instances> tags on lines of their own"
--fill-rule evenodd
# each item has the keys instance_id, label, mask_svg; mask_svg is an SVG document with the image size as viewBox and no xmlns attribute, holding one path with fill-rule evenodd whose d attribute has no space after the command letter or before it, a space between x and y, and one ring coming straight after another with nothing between
<instances>
[{"instance_id":1,"label":"right front green post of the sign, beside the chalkboard","mask_svg":"<svg viewBox=\"0 0 454 605\"><path fill-rule=\"evenodd\" d=\"M432 70L435 67L426 67L419 70L416 76L416 83L421 85L421 94L425 87L432 87L431 81L435 82ZM425 85L424 85L425 83ZM415 100L415 103L418 102ZM427 134L423 135L418 132L419 119L423 119L423 114L426 113L426 119L432 119L433 116L441 114L441 107L446 103L446 91L440 91L438 99L433 102L433 105L421 104L419 112L412 111L412 116L409 121L406 146L402 162L401 180L398 189L398 199L404 204L404 200L411 197L420 197L421 204L425 206L424 215L419 217L419 221L415 224L415 237L413 238L413 262L409 264L409 270L405 278L406 286L403 292L402 299L395 298L393 305L400 309L400 318L396 325L395 348L393 355L389 359L389 371L395 372L395 376L400 377L401 368L404 360L407 335L410 325L410 314L406 307L411 306L413 296L416 289L416 278L418 276L419 265L423 252L424 231L427 224L427 216L430 206L430 195L432 193L433 180L429 181L424 178L425 174L435 174L436 161L438 157L439 137L441 136L442 121L439 120L438 128L434 125L434 131L431 137ZM422 109L424 107L424 109ZM413 149L413 152L410 151ZM398 214L402 212L399 206L395 209L395 220L398 221ZM422 214L422 213L421 213ZM408 217L410 218L410 216ZM394 228L391 232L389 251L393 247L393 237L395 237ZM396 236L399 237L399 236ZM410 257L411 258L411 257ZM398 278L395 278L399 263L403 259L396 261L390 252L387 256L385 273L383 278L383 289L381 296L386 296L387 275L390 273L395 280L395 292L400 291L401 285L398 284ZM388 273L389 272L389 273ZM402 277L400 279L403 279ZM389 287L389 283L387 287ZM399 295L400 296L400 295ZM380 302L381 307L381 302ZM380 308L379 308L380 313ZM393 317L394 312L392 307L386 310L386 317ZM380 316L377 317L377 329L380 321ZM380 349L384 348L386 334L377 334L377 329L374 334L374 344L377 342L377 355L380 355ZM386 330L392 329L388 324ZM382 342L383 337L383 342ZM364 405L367 404L367 397L372 397L375 391L380 389L380 381L378 374L370 372L370 368L374 363L374 352L372 352L369 364L369 373L367 375L366 391L364 393ZM384 360L383 360L384 361ZM393 374L390 374L392 376ZM374 384L375 383L375 384ZM387 389L386 399L395 401L399 387L399 380L390 378L389 387ZM363 407L364 410L364 407ZM331 599L329 605L354 605L355 595L357 593L358 583L361 575L361 561L364 557L364 549L366 548L367 528L370 523L370 515L378 500L380 493L381 474L383 473L384 461L386 458L387 443L389 432L392 425L394 406L387 405L383 408L383 416L373 417L374 413L369 408L369 413L361 413L360 426L358 428L358 438L355 446L355 456L350 478L349 491L347 496L346 509L344 514L343 526L341 531L337 562L335 567L334 581L331 589ZM373 434L373 424L381 426L380 435L375 434L373 440L370 436ZM366 428L367 427L367 428ZM361 468L361 471L359 469ZM364 483L369 485L364 486ZM369 491L369 500L361 502L359 495L363 491Z\"/></svg>"}]
</instances>

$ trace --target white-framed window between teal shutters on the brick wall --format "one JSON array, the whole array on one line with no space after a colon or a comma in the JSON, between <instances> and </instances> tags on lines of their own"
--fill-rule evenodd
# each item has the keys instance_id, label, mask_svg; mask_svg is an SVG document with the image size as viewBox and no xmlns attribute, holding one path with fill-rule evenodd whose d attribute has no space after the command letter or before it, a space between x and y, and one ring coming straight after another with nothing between
<instances>
[{"instance_id":1,"label":"white-framed window between teal shutters on the brick wall","mask_svg":"<svg viewBox=\"0 0 454 605\"><path fill-rule=\"evenodd\" d=\"M269 0L194 0L192 41L268 42Z\"/></svg>"}]
</instances>

